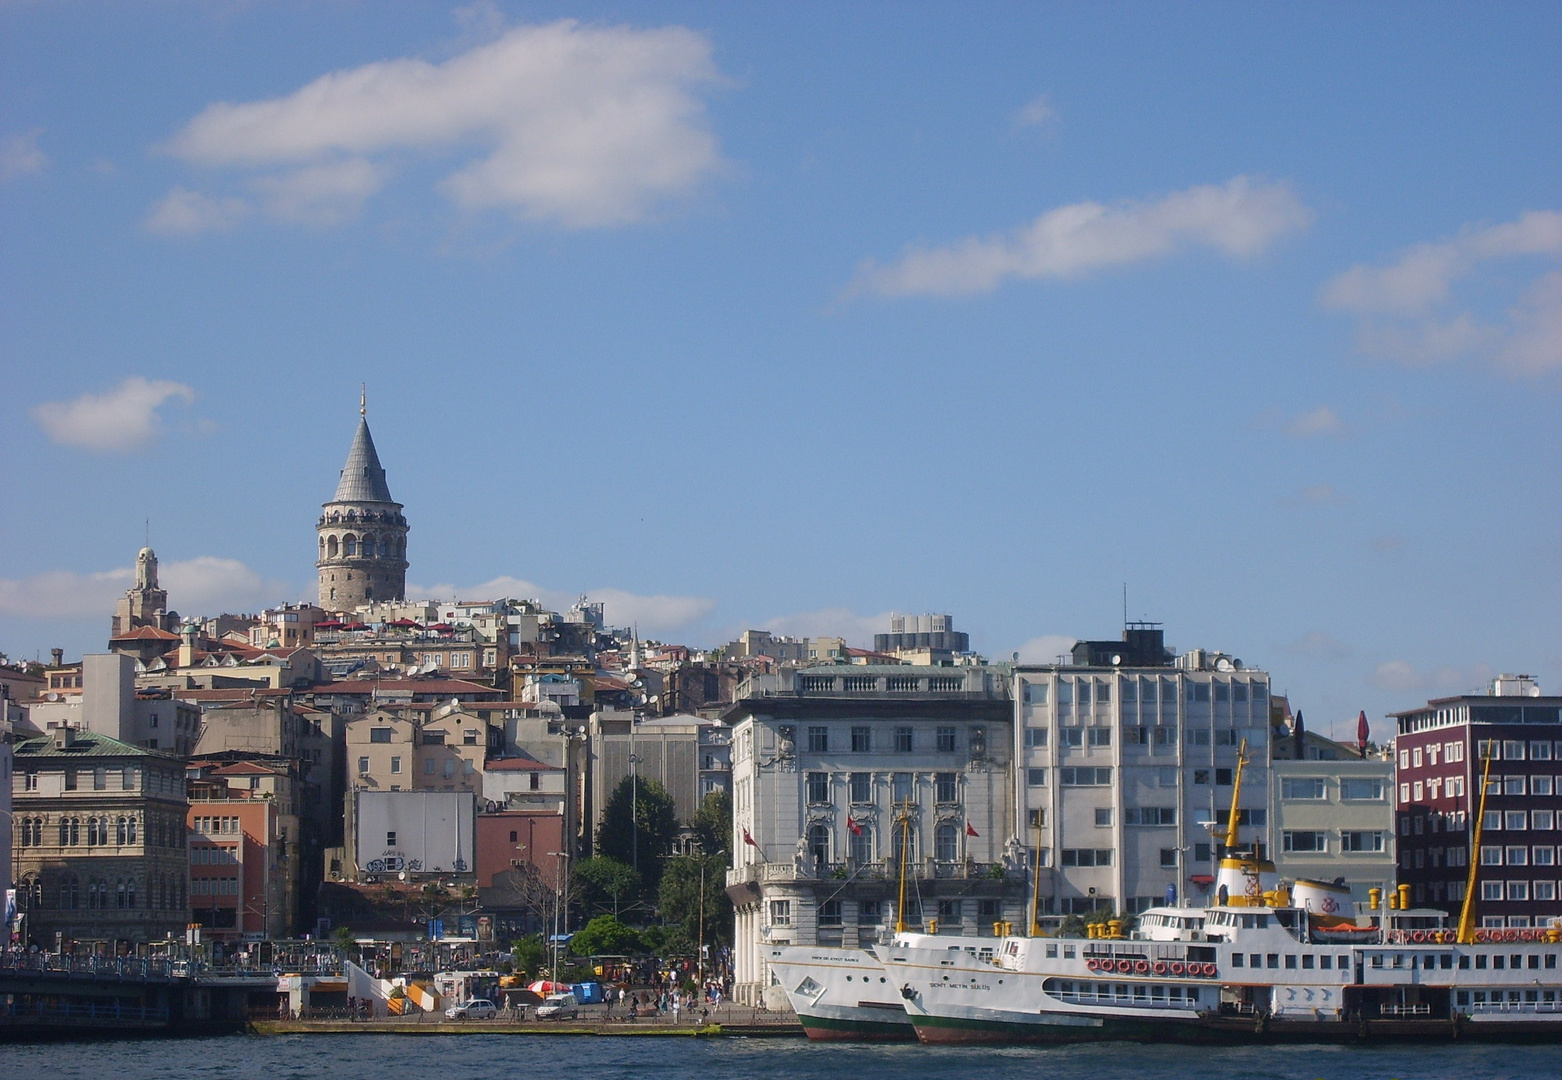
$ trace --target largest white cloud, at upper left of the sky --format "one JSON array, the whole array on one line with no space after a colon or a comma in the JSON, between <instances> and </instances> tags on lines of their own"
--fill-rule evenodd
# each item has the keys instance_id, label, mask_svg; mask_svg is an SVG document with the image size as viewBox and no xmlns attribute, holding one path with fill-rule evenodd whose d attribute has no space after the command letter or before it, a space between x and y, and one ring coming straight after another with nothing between
<instances>
[{"instance_id":1,"label":"largest white cloud, at upper left of the sky","mask_svg":"<svg viewBox=\"0 0 1562 1080\"><path fill-rule=\"evenodd\" d=\"M487 33L492 14L467 9L469 30ZM692 30L565 20L515 27L439 64L380 61L286 97L209 105L166 148L197 166L283 169L262 178L273 198L325 189L361 200L398 155L458 155L464 164L439 188L459 206L620 225L722 167L695 92L717 80L711 42Z\"/></svg>"}]
</instances>

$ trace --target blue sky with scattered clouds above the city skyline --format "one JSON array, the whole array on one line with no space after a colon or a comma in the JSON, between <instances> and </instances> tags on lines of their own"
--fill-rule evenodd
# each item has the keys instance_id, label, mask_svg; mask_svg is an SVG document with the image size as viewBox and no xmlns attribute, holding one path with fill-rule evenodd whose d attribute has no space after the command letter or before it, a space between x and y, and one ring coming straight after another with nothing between
<instances>
[{"instance_id":1,"label":"blue sky with scattered clouds above the city skyline","mask_svg":"<svg viewBox=\"0 0 1562 1080\"><path fill-rule=\"evenodd\" d=\"M0 650L409 591L1562 692L1562 8L0 5Z\"/></svg>"}]
</instances>

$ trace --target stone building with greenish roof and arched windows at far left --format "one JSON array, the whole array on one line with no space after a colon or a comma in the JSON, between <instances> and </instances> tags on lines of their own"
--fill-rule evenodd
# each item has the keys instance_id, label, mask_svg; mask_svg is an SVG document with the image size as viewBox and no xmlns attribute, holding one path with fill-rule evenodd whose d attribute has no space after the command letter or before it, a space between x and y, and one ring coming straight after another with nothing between
<instances>
[{"instance_id":1,"label":"stone building with greenish roof and arched windows at far left","mask_svg":"<svg viewBox=\"0 0 1562 1080\"><path fill-rule=\"evenodd\" d=\"M147 942L184 933L184 763L59 728L14 747L17 907L23 938Z\"/></svg>"}]
</instances>

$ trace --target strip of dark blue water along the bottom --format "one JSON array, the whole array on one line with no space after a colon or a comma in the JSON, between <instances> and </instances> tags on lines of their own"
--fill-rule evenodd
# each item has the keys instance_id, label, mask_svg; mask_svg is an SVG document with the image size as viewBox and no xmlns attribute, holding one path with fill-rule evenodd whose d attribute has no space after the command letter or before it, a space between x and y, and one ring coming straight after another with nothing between
<instances>
[{"instance_id":1,"label":"strip of dark blue water along the bottom","mask_svg":"<svg viewBox=\"0 0 1562 1080\"><path fill-rule=\"evenodd\" d=\"M922 1047L804 1039L289 1035L0 1046L33 1080L1554 1080L1546 1046Z\"/></svg>"}]
</instances>

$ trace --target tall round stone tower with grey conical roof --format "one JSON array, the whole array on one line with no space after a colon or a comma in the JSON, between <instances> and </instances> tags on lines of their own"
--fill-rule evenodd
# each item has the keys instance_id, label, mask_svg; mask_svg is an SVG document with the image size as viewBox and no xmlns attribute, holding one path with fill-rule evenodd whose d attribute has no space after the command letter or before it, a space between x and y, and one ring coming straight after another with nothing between
<instances>
[{"instance_id":1,"label":"tall round stone tower with grey conical roof","mask_svg":"<svg viewBox=\"0 0 1562 1080\"><path fill-rule=\"evenodd\" d=\"M336 497L320 522L320 606L353 611L375 600L406 597L406 517L390 497L386 470L369 435L367 395L358 403L358 433L347 452Z\"/></svg>"}]
</instances>

